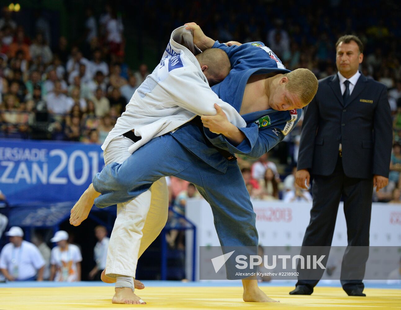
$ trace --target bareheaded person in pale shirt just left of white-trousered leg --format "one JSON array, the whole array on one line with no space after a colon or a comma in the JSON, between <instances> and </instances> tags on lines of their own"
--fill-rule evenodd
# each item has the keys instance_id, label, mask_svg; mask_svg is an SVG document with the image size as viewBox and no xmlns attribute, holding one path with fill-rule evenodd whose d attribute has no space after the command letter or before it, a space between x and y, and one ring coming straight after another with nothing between
<instances>
[{"instance_id":1,"label":"bareheaded person in pale shirt just left of white-trousered leg","mask_svg":"<svg viewBox=\"0 0 401 310\"><path fill-rule=\"evenodd\" d=\"M101 225L95 227L95 236L98 240L93 249L96 265L89 272L89 279L100 281L101 273L106 268L107 248L109 247L110 238L107 237L106 227Z\"/></svg>"}]
</instances>

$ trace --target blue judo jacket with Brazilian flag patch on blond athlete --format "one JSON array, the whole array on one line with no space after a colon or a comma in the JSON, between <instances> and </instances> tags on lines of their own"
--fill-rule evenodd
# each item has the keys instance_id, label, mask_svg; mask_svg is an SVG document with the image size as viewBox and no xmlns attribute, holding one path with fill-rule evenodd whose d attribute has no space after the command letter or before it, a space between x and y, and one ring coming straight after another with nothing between
<instances>
[{"instance_id":1,"label":"blue judo jacket with Brazilian flag patch on blond athlete","mask_svg":"<svg viewBox=\"0 0 401 310\"><path fill-rule=\"evenodd\" d=\"M241 109L245 86L253 74L288 73L278 57L261 42L245 43L227 47L216 41L212 48L225 51L230 59L229 75L212 90L223 101L232 105L238 112ZM259 158L283 140L300 120L302 109L277 111L267 109L241 115L247 127L239 128L245 139L241 144L232 145L223 135L217 135L203 128L207 139L216 147L230 153L243 154L249 158ZM207 162L213 168L226 172L227 159L215 148L208 146L205 135L194 122L189 122L171 133L190 152Z\"/></svg>"}]
</instances>

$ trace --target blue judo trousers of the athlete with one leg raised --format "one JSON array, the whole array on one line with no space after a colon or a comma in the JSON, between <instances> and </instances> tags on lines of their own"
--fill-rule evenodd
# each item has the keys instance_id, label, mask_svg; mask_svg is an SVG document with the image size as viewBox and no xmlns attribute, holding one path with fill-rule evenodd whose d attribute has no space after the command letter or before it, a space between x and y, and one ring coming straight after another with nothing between
<instances>
[{"instance_id":1,"label":"blue judo trousers of the athlete with one leg raised","mask_svg":"<svg viewBox=\"0 0 401 310\"><path fill-rule=\"evenodd\" d=\"M95 199L95 205L104 208L130 201L163 176L176 176L196 186L212 208L223 253L225 246L255 247L257 253L256 216L237 161L228 162L227 171L220 172L188 151L171 134L150 140L122 164L113 162L97 173L93 187L102 195ZM242 251L250 254L249 248ZM239 271L253 271L237 270L231 259L226 270L229 280L246 278L237 276Z\"/></svg>"}]
</instances>

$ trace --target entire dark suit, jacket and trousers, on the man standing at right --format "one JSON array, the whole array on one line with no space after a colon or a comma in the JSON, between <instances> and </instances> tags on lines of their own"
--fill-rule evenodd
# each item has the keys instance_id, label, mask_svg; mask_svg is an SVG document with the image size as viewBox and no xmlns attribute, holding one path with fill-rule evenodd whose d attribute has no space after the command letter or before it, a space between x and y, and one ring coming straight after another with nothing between
<instances>
[{"instance_id":1,"label":"entire dark suit, jacket and trousers, on the man standing at right","mask_svg":"<svg viewBox=\"0 0 401 310\"><path fill-rule=\"evenodd\" d=\"M319 81L316 96L304 113L298 155L298 170L308 169L314 178L313 206L302 253L309 246L331 245L338 203L343 195L347 223L347 231L343 233L347 233L351 246L344 254L341 273L346 292L364 287L368 252L367 248L358 249L369 245L372 179L374 174L388 178L392 140L385 85L361 74L347 102L343 102L337 74ZM338 152L340 143L342 157ZM357 258L352 251L365 256ZM352 281L347 279L350 272ZM306 285L313 290L322 274L323 270L308 274L307 279L301 276L297 286Z\"/></svg>"}]
</instances>

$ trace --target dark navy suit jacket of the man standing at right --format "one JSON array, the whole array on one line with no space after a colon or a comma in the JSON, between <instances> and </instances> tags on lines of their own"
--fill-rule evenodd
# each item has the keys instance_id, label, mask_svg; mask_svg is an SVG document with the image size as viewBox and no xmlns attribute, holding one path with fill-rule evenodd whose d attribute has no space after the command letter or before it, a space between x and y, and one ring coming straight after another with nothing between
<instances>
[{"instance_id":1,"label":"dark navy suit jacket of the man standing at right","mask_svg":"<svg viewBox=\"0 0 401 310\"><path fill-rule=\"evenodd\" d=\"M386 86L361 74L344 103L338 75L330 75L305 109L297 168L332 174L341 143L346 176L388 178L392 139Z\"/></svg>"}]
</instances>

